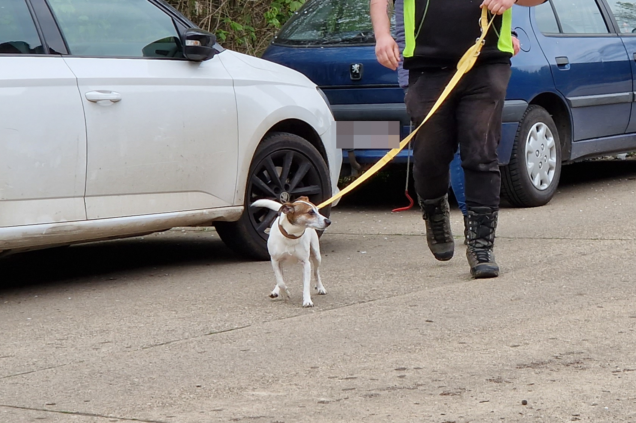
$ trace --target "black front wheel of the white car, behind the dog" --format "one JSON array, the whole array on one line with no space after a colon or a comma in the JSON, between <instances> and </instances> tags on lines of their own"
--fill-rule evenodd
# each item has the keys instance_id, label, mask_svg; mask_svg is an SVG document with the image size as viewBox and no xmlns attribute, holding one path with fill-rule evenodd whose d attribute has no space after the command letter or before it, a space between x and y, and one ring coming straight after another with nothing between
<instances>
[{"instance_id":1,"label":"black front wheel of the white car, behind the dog","mask_svg":"<svg viewBox=\"0 0 636 423\"><path fill-rule=\"evenodd\" d=\"M331 197L329 169L307 140L287 132L273 132L261 141L252 158L241 217L235 222L217 222L216 231L235 253L253 260L270 260L268 230L277 212L250 205L259 198L282 203L302 196L314 204ZM330 212L331 205L321 209L326 217Z\"/></svg>"}]
</instances>

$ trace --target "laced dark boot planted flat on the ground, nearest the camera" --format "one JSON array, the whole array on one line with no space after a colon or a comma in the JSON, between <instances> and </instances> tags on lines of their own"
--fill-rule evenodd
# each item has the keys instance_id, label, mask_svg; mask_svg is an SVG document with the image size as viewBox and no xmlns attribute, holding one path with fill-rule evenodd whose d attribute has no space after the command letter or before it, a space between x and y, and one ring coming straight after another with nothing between
<instances>
[{"instance_id":1,"label":"laced dark boot planted flat on the ground, nearest the camera","mask_svg":"<svg viewBox=\"0 0 636 423\"><path fill-rule=\"evenodd\" d=\"M466 258L475 279L499 276L492 249L495 243L498 211L490 207L469 207L466 218L468 247Z\"/></svg>"}]
</instances>

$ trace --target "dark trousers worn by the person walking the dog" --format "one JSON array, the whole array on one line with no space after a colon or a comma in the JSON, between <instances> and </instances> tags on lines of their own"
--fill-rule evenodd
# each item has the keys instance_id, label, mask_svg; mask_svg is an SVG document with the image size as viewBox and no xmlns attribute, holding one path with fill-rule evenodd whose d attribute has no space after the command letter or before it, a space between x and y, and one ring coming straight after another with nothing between
<instances>
[{"instance_id":1,"label":"dark trousers worn by the person walking the dog","mask_svg":"<svg viewBox=\"0 0 636 423\"><path fill-rule=\"evenodd\" d=\"M454 73L454 68L409 72L404 101L415 125L424 120ZM459 144L466 205L499 209L497 146L510 73L508 64L474 67L418 131L413 146L413 179L420 198L432 200L448 191L448 169Z\"/></svg>"}]
</instances>

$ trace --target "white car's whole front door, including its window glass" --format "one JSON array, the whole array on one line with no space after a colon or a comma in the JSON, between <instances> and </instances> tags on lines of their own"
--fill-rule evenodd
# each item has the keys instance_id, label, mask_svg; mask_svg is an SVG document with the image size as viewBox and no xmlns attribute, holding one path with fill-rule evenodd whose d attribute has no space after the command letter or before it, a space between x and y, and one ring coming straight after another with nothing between
<instances>
[{"instance_id":1,"label":"white car's whole front door, including its window glass","mask_svg":"<svg viewBox=\"0 0 636 423\"><path fill-rule=\"evenodd\" d=\"M149 0L50 0L86 116L88 219L232 205L238 128L218 57L183 59L185 27Z\"/></svg>"}]
</instances>

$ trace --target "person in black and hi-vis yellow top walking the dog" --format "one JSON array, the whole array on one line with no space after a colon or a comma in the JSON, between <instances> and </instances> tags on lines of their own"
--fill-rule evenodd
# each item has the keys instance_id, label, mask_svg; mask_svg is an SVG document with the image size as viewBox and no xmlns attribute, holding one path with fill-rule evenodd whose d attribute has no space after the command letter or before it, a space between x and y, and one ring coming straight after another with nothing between
<instances>
[{"instance_id":1,"label":"person in black and hi-vis yellow top walking the dog","mask_svg":"<svg viewBox=\"0 0 636 423\"><path fill-rule=\"evenodd\" d=\"M389 1L371 0L371 22L378 61L396 70L401 59L391 36ZM497 146L514 53L511 7L536 6L546 0L403 1L402 54L408 70L404 102L416 125L452 78L464 52L480 37L481 8L495 16L475 66L415 136L413 179L429 249L437 260L450 260L455 242L448 206L449 169L459 146L465 175L466 258L474 278L497 277L494 240L501 187Z\"/></svg>"}]
</instances>

